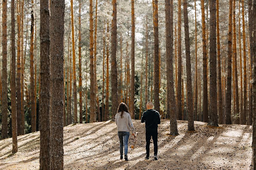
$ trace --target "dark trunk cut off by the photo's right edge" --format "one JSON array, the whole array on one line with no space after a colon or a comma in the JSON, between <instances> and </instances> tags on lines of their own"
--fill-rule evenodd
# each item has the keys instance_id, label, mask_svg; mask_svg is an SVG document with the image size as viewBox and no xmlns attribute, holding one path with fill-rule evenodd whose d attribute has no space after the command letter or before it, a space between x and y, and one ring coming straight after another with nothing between
<instances>
[{"instance_id":1,"label":"dark trunk cut off by the photo's right edge","mask_svg":"<svg viewBox=\"0 0 256 170\"><path fill-rule=\"evenodd\" d=\"M256 17L256 0L253 0L253 7L251 8L252 17ZM253 20L253 49L251 49L251 57L253 58L253 166L256 167L256 21Z\"/></svg>"}]
</instances>

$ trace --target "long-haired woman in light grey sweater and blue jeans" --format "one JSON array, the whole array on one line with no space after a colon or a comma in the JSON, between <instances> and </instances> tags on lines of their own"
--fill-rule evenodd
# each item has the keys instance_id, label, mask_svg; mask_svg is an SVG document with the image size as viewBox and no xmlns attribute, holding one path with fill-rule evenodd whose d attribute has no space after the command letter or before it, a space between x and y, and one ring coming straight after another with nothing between
<instances>
[{"instance_id":1,"label":"long-haired woman in light grey sweater and blue jeans","mask_svg":"<svg viewBox=\"0 0 256 170\"><path fill-rule=\"evenodd\" d=\"M115 115L115 123L118 126L118 137L120 140L120 159L123 159L123 143L125 143L125 160L128 161L128 140L130 136L130 129L134 135L134 126L131 121L131 116L128 107L125 103L120 103L118 106L118 113Z\"/></svg>"}]
</instances>

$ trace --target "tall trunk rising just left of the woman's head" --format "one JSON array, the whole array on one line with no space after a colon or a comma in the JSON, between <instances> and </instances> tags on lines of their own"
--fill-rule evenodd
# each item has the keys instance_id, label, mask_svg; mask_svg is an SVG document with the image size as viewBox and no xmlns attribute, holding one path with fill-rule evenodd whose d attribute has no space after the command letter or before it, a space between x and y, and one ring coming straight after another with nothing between
<instances>
[{"instance_id":1,"label":"tall trunk rising just left of the woman's head","mask_svg":"<svg viewBox=\"0 0 256 170\"><path fill-rule=\"evenodd\" d=\"M113 13L111 24L111 93L112 93L112 119L118 110L118 78L116 68L116 0L112 0ZM131 69L132 70L132 69ZM132 71L131 71L132 72ZM134 80L133 80L134 81ZM134 86L133 86L134 88ZM134 100L132 101L134 103ZM133 115L133 110L131 110Z\"/></svg>"}]
</instances>

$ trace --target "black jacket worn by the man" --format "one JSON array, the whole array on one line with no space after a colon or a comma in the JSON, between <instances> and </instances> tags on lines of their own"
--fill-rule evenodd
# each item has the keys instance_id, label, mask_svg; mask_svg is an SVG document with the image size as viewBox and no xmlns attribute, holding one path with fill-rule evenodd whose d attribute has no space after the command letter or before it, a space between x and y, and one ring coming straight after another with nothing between
<instances>
[{"instance_id":1,"label":"black jacket worn by the man","mask_svg":"<svg viewBox=\"0 0 256 170\"><path fill-rule=\"evenodd\" d=\"M146 130L157 130L158 124L160 124L159 112L153 109L144 111L141 117L141 123L146 123Z\"/></svg>"}]
</instances>

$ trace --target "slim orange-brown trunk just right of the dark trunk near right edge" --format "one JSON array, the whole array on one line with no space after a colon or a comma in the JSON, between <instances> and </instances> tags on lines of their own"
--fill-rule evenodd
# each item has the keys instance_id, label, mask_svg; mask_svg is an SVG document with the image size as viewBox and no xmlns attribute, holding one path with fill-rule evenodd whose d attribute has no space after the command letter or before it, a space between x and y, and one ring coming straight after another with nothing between
<instances>
[{"instance_id":1,"label":"slim orange-brown trunk just right of the dark trunk near right edge","mask_svg":"<svg viewBox=\"0 0 256 170\"><path fill-rule=\"evenodd\" d=\"M233 45L233 53L234 53L234 66L235 66L235 103L236 103L236 120L235 123L239 124L239 96L238 96L238 63L237 63L237 55L236 55L236 11L235 11L235 3L233 3L233 39L234 39L234 45Z\"/></svg>"}]
</instances>

